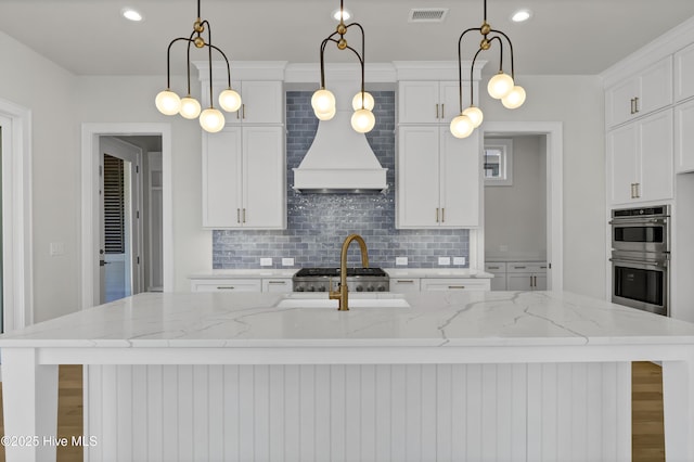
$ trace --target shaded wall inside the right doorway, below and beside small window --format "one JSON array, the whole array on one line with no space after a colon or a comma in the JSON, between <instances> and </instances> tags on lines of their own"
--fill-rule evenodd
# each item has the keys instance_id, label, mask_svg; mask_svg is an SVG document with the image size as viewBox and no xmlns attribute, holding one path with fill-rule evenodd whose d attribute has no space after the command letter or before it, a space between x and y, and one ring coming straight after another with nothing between
<instances>
[{"instance_id":1,"label":"shaded wall inside the right doorway, below and beside small window","mask_svg":"<svg viewBox=\"0 0 694 462\"><path fill-rule=\"evenodd\" d=\"M513 140L511 185L485 185L485 258L547 257L545 137ZM505 246L503 251L501 246Z\"/></svg>"}]
</instances>

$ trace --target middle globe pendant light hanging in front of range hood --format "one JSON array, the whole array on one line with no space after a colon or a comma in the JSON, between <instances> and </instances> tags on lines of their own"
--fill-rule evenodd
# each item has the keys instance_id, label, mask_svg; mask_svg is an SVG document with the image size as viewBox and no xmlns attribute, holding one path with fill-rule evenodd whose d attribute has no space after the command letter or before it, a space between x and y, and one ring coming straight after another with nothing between
<instances>
[{"instance_id":1,"label":"middle globe pendant light hanging in front of range hood","mask_svg":"<svg viewBox=\"0 0 694 462\"><path fill-rule=\"evenodd\" d=\"M332 41L337 44L339 50L351 50L357 55L359 64L361 65L361 91L355 95L351 102L352 108L355 110L351 116L351 128L359 133L367 133L373 129L376 124L376 118L371 112L374 105L373 97L364 91L364 29L359 23L345 24L346 14L344 13L345 9L343 3L344 0L340 0L339 14L336 14L339 18L339 24L336 30L321 42L321 88L313 93L311 106L313 107L316 117L320 120L330 120L335 116L335 95L325 88L325 64L323 60L325 46ZM345 39L345 34L347 34L347 30L352 26L357 26L359 30L361 30L361 54L350 47L347 43L347 39Z\"/></svg>"}]
</instances>

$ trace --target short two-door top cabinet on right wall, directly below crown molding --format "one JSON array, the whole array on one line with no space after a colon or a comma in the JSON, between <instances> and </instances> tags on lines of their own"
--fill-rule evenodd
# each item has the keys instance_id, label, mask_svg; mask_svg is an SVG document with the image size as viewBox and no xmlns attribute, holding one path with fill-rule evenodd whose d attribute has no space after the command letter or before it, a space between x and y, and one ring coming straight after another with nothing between
<instances>
[{"instance_id":1,"label":"short two-door top cabinet on right wall, directly below crown molding","mask_svg":"<svg viewBox=\"0 0 694 462\"><path fill-rule=\"evenodd\" d=\"M605 93L607 127L615 127L672 104L672 56L615 84Z\"/></svg>"}]
</instances>

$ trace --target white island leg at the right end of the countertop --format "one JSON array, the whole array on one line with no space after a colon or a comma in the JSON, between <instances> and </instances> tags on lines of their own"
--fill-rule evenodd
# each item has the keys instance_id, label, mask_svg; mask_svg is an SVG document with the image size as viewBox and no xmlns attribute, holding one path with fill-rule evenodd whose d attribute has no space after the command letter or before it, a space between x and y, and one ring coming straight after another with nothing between
<instances>
[{"instance_id":1,"label":"white island leg at the right end of the countertop","mask_svg":"<svg viewBox=\"0 0 694 462\"><path fill-rule=\"evenodd\" d=\"M689 361L663 362L665 457L668 461L694 460L694 349L689 348Z\"/></svg>"}]
</instances>

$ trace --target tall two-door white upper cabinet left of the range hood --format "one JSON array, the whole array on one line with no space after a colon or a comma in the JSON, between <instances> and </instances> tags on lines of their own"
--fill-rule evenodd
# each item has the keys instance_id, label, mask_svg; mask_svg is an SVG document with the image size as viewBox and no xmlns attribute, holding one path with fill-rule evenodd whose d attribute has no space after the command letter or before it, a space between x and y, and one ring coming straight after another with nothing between
<instances>
[{"instance_id":1,"label":"tall two-door white upper cabinet left of the range hood","mask_svg":"<svg viewBox=\"0 0 694 462\"><path fill-rule=\"evenodd\" d=\"M203 226L286 228L284 129L227 126L203 134Z\"/></svg>"}]
</instances>

